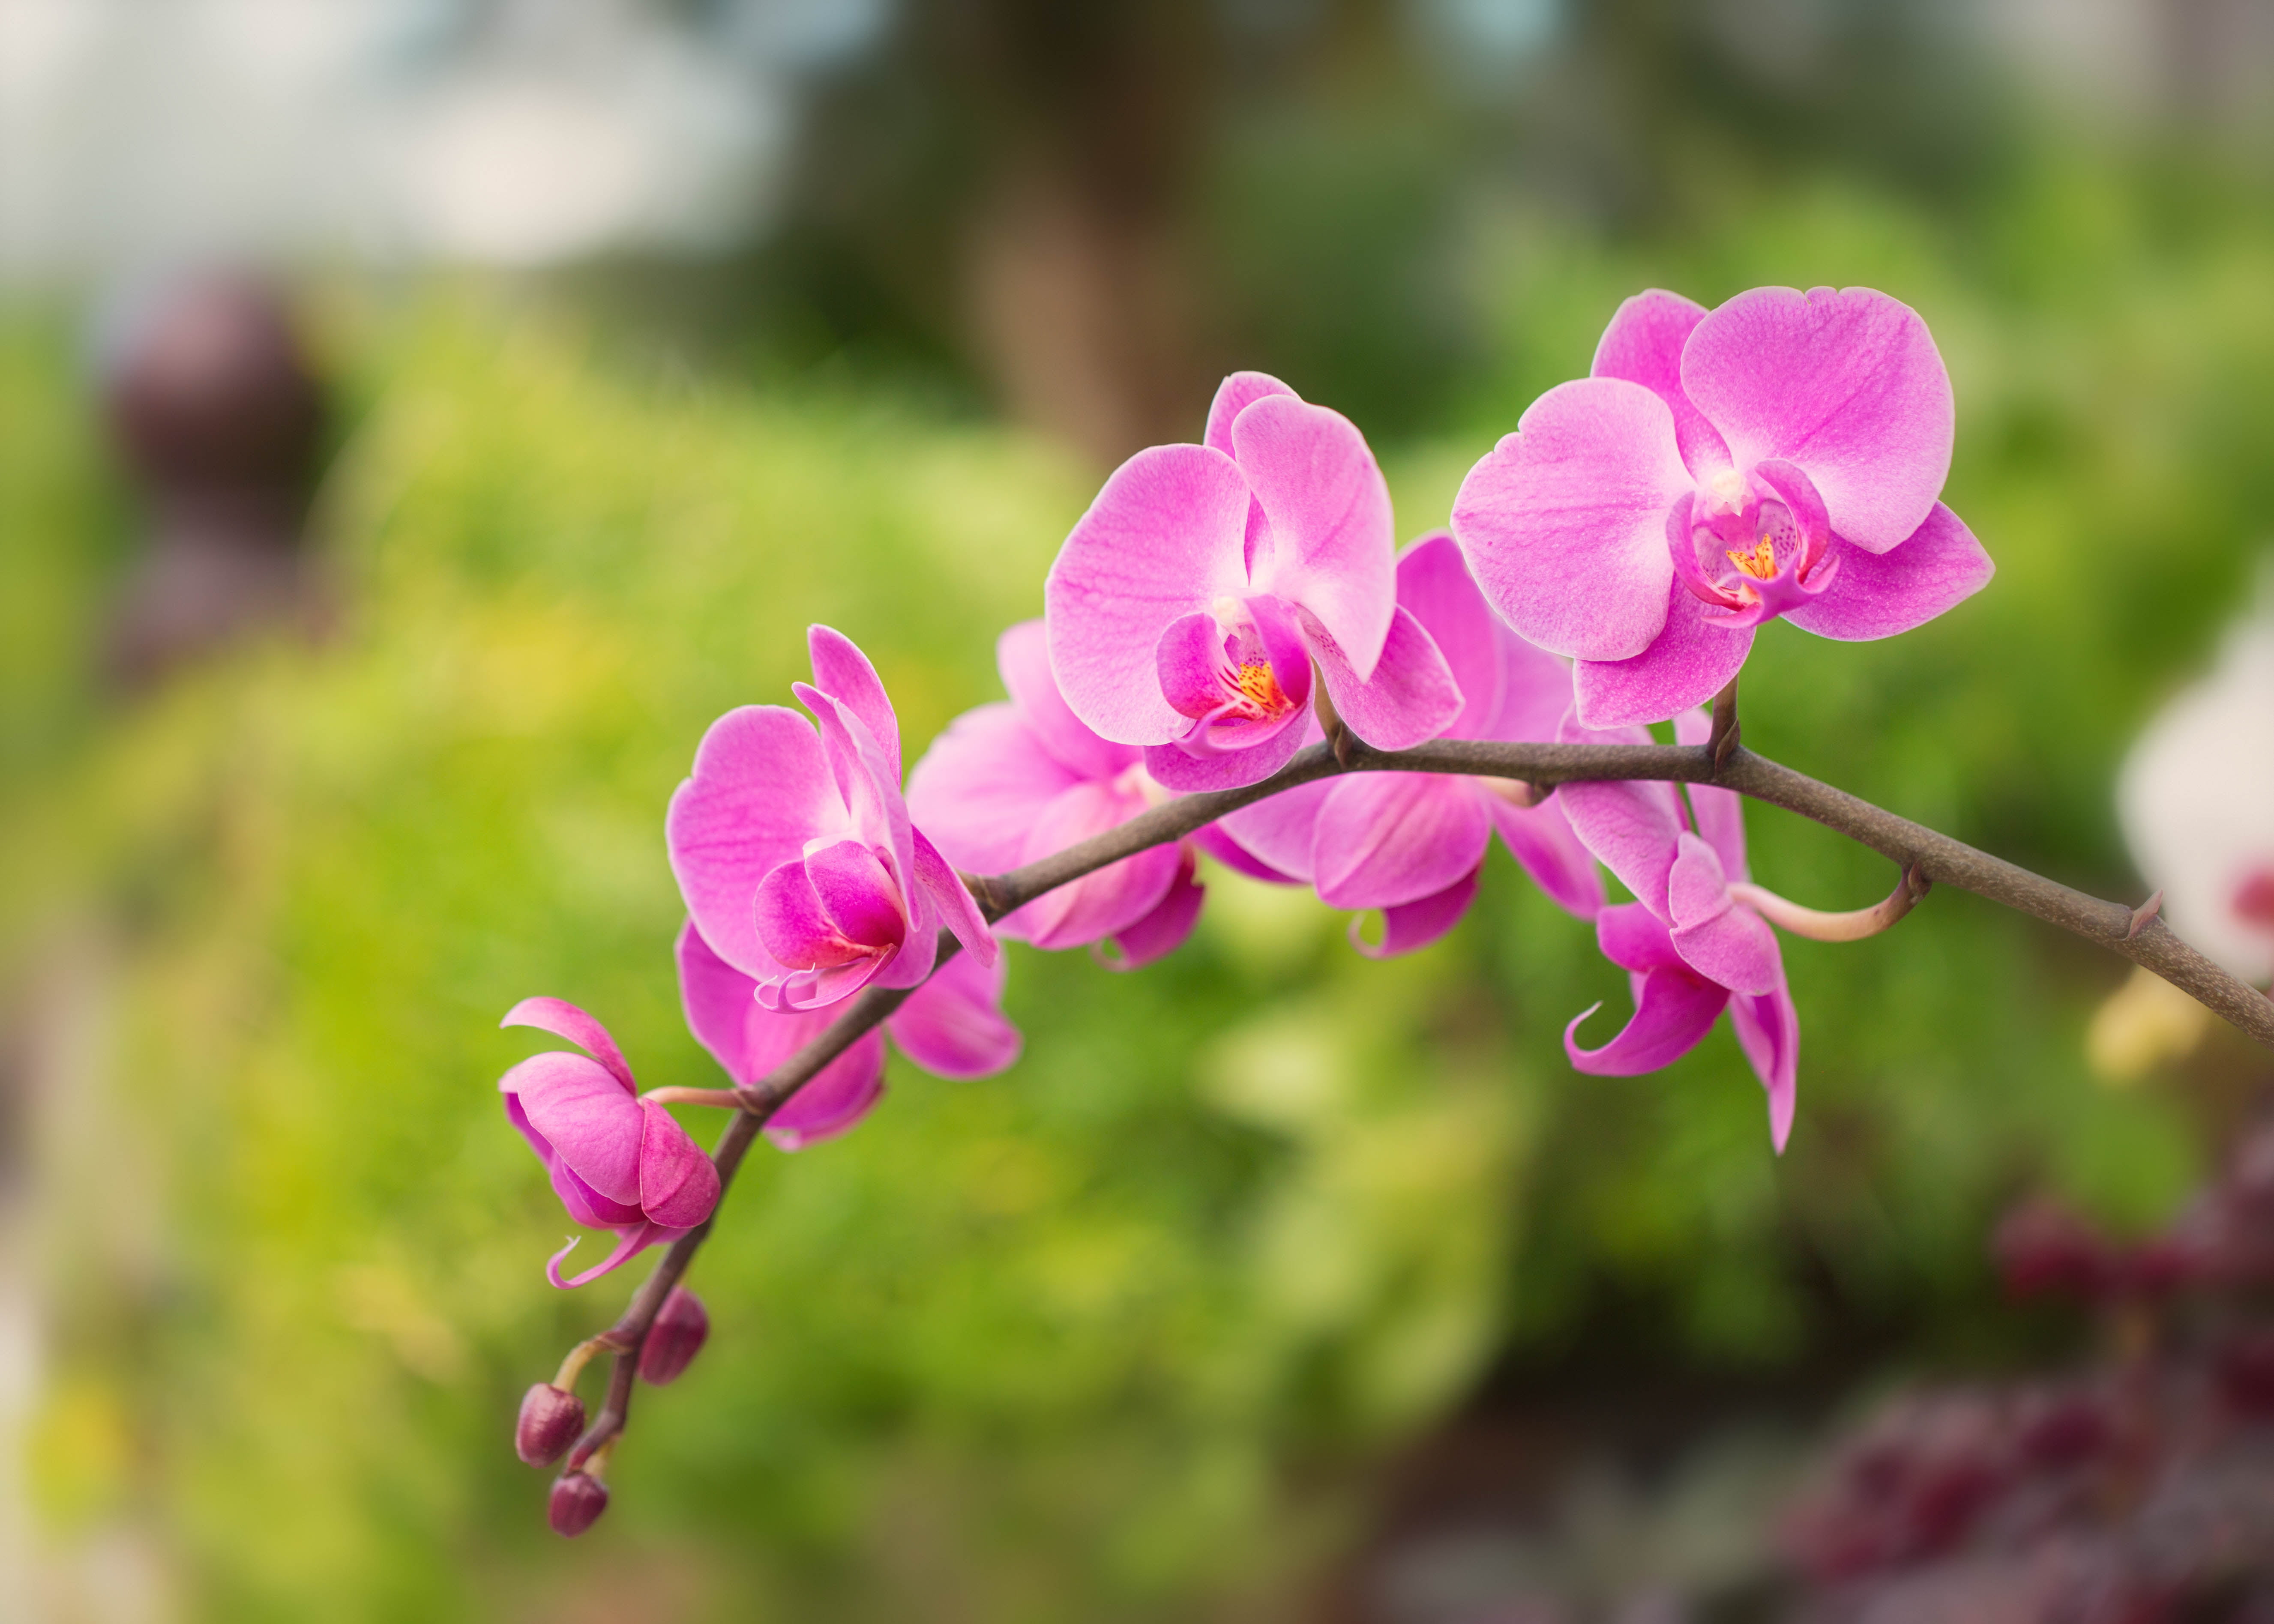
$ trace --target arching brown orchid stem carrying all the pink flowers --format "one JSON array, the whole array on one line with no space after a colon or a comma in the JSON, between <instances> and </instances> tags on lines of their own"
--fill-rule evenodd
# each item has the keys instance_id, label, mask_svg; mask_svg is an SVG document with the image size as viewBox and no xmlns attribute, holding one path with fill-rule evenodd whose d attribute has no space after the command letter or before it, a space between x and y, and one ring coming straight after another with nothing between
<instances>
[{"instance_id":1,"label":"arching brown orchid stem carrying all the pink flowers","mask_svg":"<svg viewBox=\"0 0 2274 1624\"><path fill-rule=\"evenodd\" d=\"M1924 823L1912 823L1869 801L1860 801L1844 789L1833 789L1790 767L1778 767L1746 748L1728 748L1724 744L1726 755L1719 767L1715 764L1712 746L1680 744L1494 744L1439 739L1412 751L1376 751L1344 730L1342 748L1346 760L1337 760L1335 748L1328 744L1312 744L1260 785L1178 796L1103 835L1067 846L1041 862L1030 862L1010 873L966 876L966 883L987 919L996 921L1044 892L1053 892L1069 880L1078 880L1151 846L1182 839L1214 823L1226 812L1237 812L1244 805L1294 789L1296 785L1339 773L1460 773L1517 778L1539 787L1610 778L1717 785L1785 807L1787 812L1799 812L1869 846L1883 857L1892 857L1906 871L1903 889L1910 889L1910 876L1917 876L1919 883L1956 885L1962 892L1974 892L1992 903L2003 903L2006 908L2072 930L2110 953L2122 953L2131 962L2156 971L2260 1044L2274 1049L2274 1001L2267 1001L2256 987L2226 973L2181 942L2163 919L2151 917L2142 921L2124 903L2103 903L2097 896L2047 880L2042 873L2031 873L2003 857L1992 857ZM1924 885L1919 889L1924 894ZM955 939L941 933L939 962L946 962L951 953L955 953ZM766 1117L780 1110L830 1060L850 1049L855 1039L898 1010L910 992L869 987L853 999L844 1014L830 1021L828 1030L775 1067L764 1080L735 1089L741 1099L741 1110L728 1121L725 1133L719 1137L719 1149L712 1151L712 1160L719 1165L721 1199L725 1199L728 1185L735 1183L735 1171L741 1167L750 1142L766 1126ZM664 1296L687 1274L687 1265L694 1260L696 1249L703 1246L716 1217L714 1208L709 1219L680 1235L655 1267L655 1274L632 1294L623 1317L596 1337L616 1351L616 1367L609 1376L607 1403L594 1417L584 1437L578 1440L571 1465L587 1460L623 1431L632 1401L639 1347L646 1342L648 1326L655 1324Z\"/></svg>"}]
</instances>

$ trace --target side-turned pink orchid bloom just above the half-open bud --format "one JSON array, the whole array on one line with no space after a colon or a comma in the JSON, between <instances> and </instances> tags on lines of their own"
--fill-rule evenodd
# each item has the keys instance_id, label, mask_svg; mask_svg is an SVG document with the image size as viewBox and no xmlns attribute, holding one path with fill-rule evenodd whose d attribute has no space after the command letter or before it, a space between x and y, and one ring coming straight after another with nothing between
<instances>
[{"instance_id":1,"label":"side-turned pink orchid bloom just above the half-open bud","mask_svg":"<svg viewBox=\"0 0 2274 1624\"><path fill-rule=\"evenodd\" d=\"M991 967L978 903L907 819L875 666L828 625L807 646L814 682L794 691L821 732L785 705L730 710L671 796L671 871L696 930L769 1010L819 1010L871 980L914 987L941 926Z\"/></svg>"}]
</instances>

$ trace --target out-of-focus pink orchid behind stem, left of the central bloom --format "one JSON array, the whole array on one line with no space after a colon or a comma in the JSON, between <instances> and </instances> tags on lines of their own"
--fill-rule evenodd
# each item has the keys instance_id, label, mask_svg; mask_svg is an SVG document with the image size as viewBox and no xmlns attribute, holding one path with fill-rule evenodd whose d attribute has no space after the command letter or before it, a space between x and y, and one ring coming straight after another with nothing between
<instances>
[{"instance_id":1,"label":"out-of-focus pink orchid behind stem, left of the central bloom","mask_svg":"<svg viewBox=\"0 0 2274 1624\"><path fill-rule=\"evenodd\" d=\"M996 639L1007 703L948 723L907 776L907 807L939 851L969 873L1005 873L1128 823L1169 798L1144 769L1144 751L1082 726L1057 682L1041 621ZM996 923L1039 948L1112 942L1112 969L1137 969L1178 948L1201 917L1194 853L1267 880L1264 869L1210 826L1182 842L1085 873Z\"/></svg>"}]
</instances>

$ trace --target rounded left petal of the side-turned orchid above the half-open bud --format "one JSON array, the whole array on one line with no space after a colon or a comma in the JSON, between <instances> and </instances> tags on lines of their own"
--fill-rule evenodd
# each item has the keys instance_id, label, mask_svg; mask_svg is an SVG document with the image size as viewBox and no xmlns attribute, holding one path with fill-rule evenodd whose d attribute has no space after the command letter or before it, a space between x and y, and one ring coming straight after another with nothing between
<instances>
[{"instance_id":1,"label":"rounded left petal of the side-turned orchid above the half-open bud","mask_svg":"<svg viewBox=\"0 0 2274 1624\"><path fill-rule=\"evenodd\" d=\"M714 721L664 819L671 873L696 928L728 964L760 978L778 973L750 912L760 880L800 860L812 835L844 828L821 739L782 705L744 705Z\"/></svg>"}]
</instances>

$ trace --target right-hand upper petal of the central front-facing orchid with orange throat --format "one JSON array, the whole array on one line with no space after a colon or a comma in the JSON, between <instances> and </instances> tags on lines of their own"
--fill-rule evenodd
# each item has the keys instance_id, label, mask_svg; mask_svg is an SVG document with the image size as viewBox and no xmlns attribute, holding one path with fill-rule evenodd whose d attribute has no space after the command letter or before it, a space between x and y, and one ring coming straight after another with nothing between
<instances>
[{"instance_id":1,"label":"right-hand upper petal of the central front-facing orchid with orange throat","mask_svg":"<svg viewBox=\"0 0 2274 1624\"><path fill-rule=\"evenodd\" d=\"M1389 484L1364 434L1328 407L1264 396L1233 421L1239 471L1271 519L1269 580L1373 676L1396 603ZM1262 562L1262 560L1258 560Z\"/></svg>"}]
</instances>

